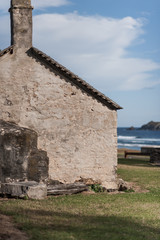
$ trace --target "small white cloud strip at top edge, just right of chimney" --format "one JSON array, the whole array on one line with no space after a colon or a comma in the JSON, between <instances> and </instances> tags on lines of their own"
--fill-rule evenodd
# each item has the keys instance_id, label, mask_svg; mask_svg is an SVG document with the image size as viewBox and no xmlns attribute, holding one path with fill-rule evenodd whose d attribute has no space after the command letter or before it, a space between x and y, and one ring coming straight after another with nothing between
<instances>
[{"instance_id":1,"label":"small white cloud strip at top edge, just right of chimney","mask_svg":"<svg viewBox=\"0 0 160 240\"><path fill-rule=\"evenodd\" d=\"M68 5L68 0L32 0L32 5L35 9L44 9L47 7L60 7Z\"/></svg>"}]
</instances>

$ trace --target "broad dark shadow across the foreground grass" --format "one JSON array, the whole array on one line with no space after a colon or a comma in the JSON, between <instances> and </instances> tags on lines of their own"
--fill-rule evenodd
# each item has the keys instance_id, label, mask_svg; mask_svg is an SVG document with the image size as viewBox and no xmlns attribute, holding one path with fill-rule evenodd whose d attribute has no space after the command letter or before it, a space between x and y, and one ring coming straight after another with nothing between
<instances>
[{"instance_id":1,"label":"broad dark shadow across the foreground grass","mask_svg":"<svg viewBox=\"0 0 160 240\"><path fill-rule=\"evenodd\" d=\"M22 209L23 212L24 209ZM14 213L13 213L14 215ZM159 240L160 230L131 218L26 210L15 216L31 240Z\"/></svg>"}]
</instances>

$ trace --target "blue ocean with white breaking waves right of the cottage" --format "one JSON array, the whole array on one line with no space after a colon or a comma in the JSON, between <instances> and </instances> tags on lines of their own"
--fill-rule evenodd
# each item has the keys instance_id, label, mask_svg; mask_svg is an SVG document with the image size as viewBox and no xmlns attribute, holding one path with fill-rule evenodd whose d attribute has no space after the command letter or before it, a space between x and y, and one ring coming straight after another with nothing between
<instances>
[{"instance_id":1,"label":"blue ocean with white breaking waves right of the cottage","mask_svg":"<svg viewBox=\"0 0 160 240\"><path fill-rule=\"evenodd\" d=\"M160 131L118 128L118 148L140 150L146 146L160 146Z\"/></svg>"}]
</instances>

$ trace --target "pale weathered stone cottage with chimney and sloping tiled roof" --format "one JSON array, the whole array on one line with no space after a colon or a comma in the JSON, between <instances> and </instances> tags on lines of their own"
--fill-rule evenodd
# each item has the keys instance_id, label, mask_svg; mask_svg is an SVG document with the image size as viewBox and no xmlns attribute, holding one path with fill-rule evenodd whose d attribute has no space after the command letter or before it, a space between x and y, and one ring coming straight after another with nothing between
<instances>
[{"instance_id":1,"label":"pale weathered stone cottage with chimney and sloping tiled roof","mask_svg":"<svg viewBox=\"0 0 160 240\"><path fill-rule=\"evenodd\" d=\"M32 9L30 0L11 0L11 46L0 52L0 120L37 134L49 179L116 189L121 107L32 46Z\"/></svg>"}]
</instances>

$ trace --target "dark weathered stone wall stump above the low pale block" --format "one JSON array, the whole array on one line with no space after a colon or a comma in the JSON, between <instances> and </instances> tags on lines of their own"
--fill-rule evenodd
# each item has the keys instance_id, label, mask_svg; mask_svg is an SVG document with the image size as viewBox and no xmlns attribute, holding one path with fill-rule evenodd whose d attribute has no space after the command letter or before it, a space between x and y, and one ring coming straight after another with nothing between
<instances>
[{"instance_id":1,"label":"dark weathered stone wall stump above the low pale block","mask_svg":"<svg viewBox=\"0 0 160 240\"><path fill-rule=\"evenodd\" d=\"M48 157L35 131L0 120L0 182L46 181Z\"/></svg>"}]
</instances>

